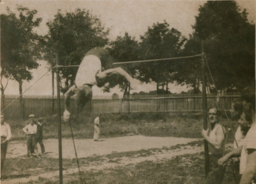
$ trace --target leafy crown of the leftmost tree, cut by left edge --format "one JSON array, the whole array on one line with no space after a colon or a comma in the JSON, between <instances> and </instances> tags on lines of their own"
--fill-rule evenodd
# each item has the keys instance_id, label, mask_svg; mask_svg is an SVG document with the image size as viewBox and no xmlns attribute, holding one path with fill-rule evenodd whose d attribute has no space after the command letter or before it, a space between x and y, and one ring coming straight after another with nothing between
<instances>
[{"instance_id":1,"label":"leafy crown of the leftmost tree, cut by left edge","mask_svg":"<svg viewBox=\"0 0 256 184\"><path fill-rule=\"evenodd\" d=\"M38 67L40 37L33 29L39 26L42 18L34 18L36 10L23 6L18 6L17 10L18 18L9 8L8 14L1 14L1 78L18 81L22 94L22 81L30 81L32 73L29 70Z\"/></svg>"}]
</instances>

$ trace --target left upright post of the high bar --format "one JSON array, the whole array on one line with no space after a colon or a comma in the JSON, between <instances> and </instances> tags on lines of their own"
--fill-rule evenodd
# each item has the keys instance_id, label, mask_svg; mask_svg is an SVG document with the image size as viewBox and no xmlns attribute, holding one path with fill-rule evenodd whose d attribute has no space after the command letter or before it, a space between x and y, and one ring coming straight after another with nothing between
<instances>
[{"instance_id":1,"label":"left upright post of the high bar","mask_svg":"<svg viewBox=\"0 0 256 184\"><path fill-rule=\"evenodd\" d=\"M56 66L58 66L58 53L56 53ZM60 184L63 184L62 176L62 136L61 136L61 115L60 115L60 75L58 67L55 70L56 79L57 79L57 106L58 106L58 139L59 139L59 172L60 172Z\"/></svg>"}]
</instances>

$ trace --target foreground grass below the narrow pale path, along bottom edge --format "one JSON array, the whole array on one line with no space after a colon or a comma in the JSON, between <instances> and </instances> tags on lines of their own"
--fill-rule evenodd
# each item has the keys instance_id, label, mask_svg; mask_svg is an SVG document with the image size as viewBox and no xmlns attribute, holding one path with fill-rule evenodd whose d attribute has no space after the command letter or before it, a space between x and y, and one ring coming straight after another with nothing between
<instances>
[{"instance_id":1,"label":"foreground grass below the narrow pale path, along bottom edge","mask_svg":"<svg viewBox=\"0 0 256 184\"><path fill-rule=\"evenodd\" d=\"M78 173L64 177L66 184L78 184ZM135 165L115 167L108 170L82 172L84 184L203 184L204 183L204 153L175 156L170 160L160 162L144 161ZM56 179L56 180L55 180ZM55 184L58 178L40 178L36 182L26 184ZM222 184L233 182L231 167L227 167Z\"/></svg>"}]
</instances>

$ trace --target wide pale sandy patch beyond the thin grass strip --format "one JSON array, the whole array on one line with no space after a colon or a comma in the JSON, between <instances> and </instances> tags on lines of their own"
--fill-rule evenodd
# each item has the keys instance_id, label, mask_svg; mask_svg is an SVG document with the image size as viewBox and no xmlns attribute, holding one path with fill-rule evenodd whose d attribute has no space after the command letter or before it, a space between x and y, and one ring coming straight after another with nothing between
<instances>
[{"instance_id":1,"label":"wide pale sandy patch beyond the thin grass strip","mask_svg":"<svg viewBox=\"0 0 256 184\"><path fill-rule=\"evenodd\" d=\"M196 138L177 137L145 137L142 135L115 137L93 141L92 139L75 139L78 157L87 157L94 154L104 155L112 152L127 152L141 149L170 147L176 144L187 144L188 142L199 140ZM58 139L44 140L47 155L58 158ZM38 146L40 148L40 146ZM12 141L8 144L6 158L24 156L27 153L26 140ZM74 145L72 139L62 139L62 158L75 158Z\"/></svg>"}]
</instances>

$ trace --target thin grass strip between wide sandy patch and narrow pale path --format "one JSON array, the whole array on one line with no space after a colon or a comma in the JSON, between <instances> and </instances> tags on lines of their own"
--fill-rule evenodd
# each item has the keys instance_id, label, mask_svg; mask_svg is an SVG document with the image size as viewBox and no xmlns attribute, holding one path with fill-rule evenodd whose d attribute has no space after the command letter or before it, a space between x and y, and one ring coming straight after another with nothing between
<instances>
[{"instance_id":1,"label":"thin grass strip between wide sandy patch and narrow pale path","mask_svg":"<svg viewBox=\"0 0 256 184\"><path fill-rule=\"evenodd\" d=\"M80 167L86 167L90 165L98 165L104 162L114 162L118 163L121 158L134 158L134 157L146 157L155 154L156 152L161 152L162 150L176 150L184 148L185 146L201 146L200 142L194 141L188 144L178 144L170 147L163 148L151 148L142 149L138 151L128 151L128 152L113 152L111 154L106 154L104 156L88 156L86 158L79 158ZM63 170L68 168L76 168L76 159L63 159L62 160ZM59 161L57 158L35 158L26 156L17 158L7 158L4 163L4 179L13 178L23 178L28 176L38 176L38 174L45 172L58 171Z\"/></svg>"}]
</instances>

